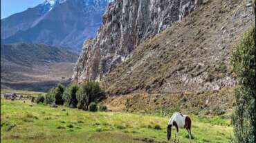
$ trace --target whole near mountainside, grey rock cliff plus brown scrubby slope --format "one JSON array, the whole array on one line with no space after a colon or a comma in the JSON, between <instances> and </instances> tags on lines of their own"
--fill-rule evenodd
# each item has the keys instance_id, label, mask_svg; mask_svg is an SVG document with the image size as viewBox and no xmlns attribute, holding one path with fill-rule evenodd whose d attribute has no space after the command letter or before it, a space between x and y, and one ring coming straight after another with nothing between
<instances>
[{"instance_id":1,"label":"whole near mountainside, grey rock cliff plus brown scrubby slope","mask_svg":"<svg viewBox=\"0 0 256 143\"><path fill-rule=\"evenodd\" d=\"M73 80L100 80L111 110L221 115L232 108L232 47L251 1L114 1L86 41Z\"/></svg>"}]
</instances>

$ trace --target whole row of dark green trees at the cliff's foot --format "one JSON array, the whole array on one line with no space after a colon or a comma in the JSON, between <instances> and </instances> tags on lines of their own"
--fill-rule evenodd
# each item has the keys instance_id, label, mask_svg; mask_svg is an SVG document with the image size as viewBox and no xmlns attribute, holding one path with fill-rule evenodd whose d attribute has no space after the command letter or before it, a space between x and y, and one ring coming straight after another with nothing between
<instances>
[{"instance_id":1,"label":"whole row of dark green trees at the cliff's foot","mask_svg":"<svg viewBox=\"0 0 256 143\"><path fill-rule=\"evenodd\" d=\"M33 102L50 104L53 107L64 105L66 107L78 108L85 111L98 111L97 103L104 99L106 94L100 84L93 80L86 80L81 85L72 84L64 87L58 84L50 89L46 96L33 98ZM100 105L100 111L107 111L107 107Z\"/></svg>"}]
</instances>

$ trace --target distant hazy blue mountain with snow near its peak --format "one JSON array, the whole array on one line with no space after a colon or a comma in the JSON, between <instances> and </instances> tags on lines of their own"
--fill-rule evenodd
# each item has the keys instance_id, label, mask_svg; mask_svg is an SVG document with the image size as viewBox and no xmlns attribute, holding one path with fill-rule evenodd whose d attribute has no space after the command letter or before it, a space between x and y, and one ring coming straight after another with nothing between
<instances>
[{"instance_id":1,"label":"distant hazy blue mountain with snow near its peak","mask_svg":"<svg viewBox=\"0 0 256 143\"><path fill-rule=\"evenodd\" d=\"M40 43L80 50L93 38L110 0L46 0L1 19L2 43Z\"/></svg>"}]
</instances>

